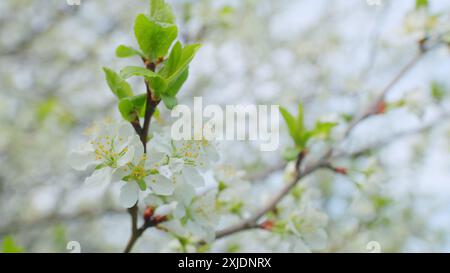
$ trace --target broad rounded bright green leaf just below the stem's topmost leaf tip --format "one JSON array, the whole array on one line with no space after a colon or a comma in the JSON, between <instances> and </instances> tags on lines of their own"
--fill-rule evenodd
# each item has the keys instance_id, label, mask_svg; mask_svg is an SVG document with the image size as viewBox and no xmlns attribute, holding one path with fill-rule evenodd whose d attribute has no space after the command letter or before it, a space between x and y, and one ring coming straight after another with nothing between
<instances>
[{"instance_id":1,"label":"broad rounded bright green leaf just below the stem's topmost leaf tip","mask_svg":"<svg viewBox=\"0 0 450 273\"><path fill-rule=\"evenodd\" d=\"M136 17L134 34L146 58L156 62L166 56L178 35L178 28L176 25L159 23L140 14Z\"/></svg>"}]
</instances>

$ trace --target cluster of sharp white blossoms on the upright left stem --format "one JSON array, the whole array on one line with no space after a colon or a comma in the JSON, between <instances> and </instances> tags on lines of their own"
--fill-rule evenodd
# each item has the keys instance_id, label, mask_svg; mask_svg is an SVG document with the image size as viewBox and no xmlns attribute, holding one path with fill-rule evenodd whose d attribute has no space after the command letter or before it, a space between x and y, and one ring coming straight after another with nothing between
<instances>
[{"instance_id":1,"label":"cluster of sharp white blossoms on the upright left stem","mask_svg":"<svg viewBox=\"0 0 450 273\"><path fill-rule=\"evenodd\" d=\"M129 123L105 122L91 129L92 139L71 153L77 170L92 170L86 183L120 182L120 203L132 207L141 195L158 225L178 237L212 240L215 228L215 184L203 172L218 160L207 140L173 141L161 129L147 143L147 153ZM167 128L168 129L168 128Z\"/></svg>"}]
</instances>

